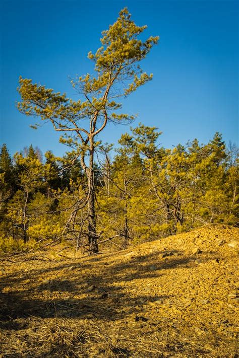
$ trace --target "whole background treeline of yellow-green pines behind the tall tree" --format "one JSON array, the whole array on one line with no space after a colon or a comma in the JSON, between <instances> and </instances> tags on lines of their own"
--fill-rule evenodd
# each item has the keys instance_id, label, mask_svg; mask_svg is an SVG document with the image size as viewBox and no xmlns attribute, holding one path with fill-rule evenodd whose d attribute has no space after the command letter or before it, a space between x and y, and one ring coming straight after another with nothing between
<instances>
[{"instance_id":1,"label":"whole background treeline of yellow-green pines behind the tall tree","mask_svg":"<svg viewBox=\"0 0 239 358\"><path fill-rule=\"evenodd\" d=\"M216 133L165 149L160 132L139 124L113 159L99 146L94 167L99 244L125 248L208 223L237 225L237 148ZM87 178L74 152L63 158L30 146L0 154L0 250L68 241L87 250Z\"/></svg>"}]
</instances>

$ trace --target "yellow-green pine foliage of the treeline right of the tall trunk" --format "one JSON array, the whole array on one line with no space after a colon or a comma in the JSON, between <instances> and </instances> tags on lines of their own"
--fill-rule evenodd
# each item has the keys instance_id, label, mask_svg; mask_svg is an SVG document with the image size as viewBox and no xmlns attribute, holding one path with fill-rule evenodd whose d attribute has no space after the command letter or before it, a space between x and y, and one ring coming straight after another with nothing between
<instances>
[{"instance_id":1,"label":"yellow-green pine foliage of the treeline right of the tall trunk","mask_svg":"<svg viewBox=\"0 0 239 358\"><path fill-rule=\"evenodd\" d=\"M128 243L209 223L236 225L238 171L227 166L221 135L216 133L208 145L199 145L195 139L187 147L165 150L157 145L160 134L140 124L131 134L122 135L120 155L110 169L110 188L107 195L100 193L104 235L117 233L123 240L126 197ZM120 173L127 178L126 190L122 190Z\"/></svg>"}]
</instances>

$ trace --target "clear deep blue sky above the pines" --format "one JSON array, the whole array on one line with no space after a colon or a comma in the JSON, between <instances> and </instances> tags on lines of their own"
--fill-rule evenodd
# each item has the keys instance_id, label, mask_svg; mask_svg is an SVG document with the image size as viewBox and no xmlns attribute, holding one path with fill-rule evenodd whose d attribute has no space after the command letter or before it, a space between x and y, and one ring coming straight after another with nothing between
<instances>
[{"instance_id":1,"label":"clear deep blue sky above the pines","mask_svg":"<svg viewBox=\"0 0 239 358\"><path fill-rule=\"evenodd\" d=\"M124 112L163 132L171 148L195 137L206 143L216 131L226 142L238 138L238 2L220 0L2 0L1 133L11 154L33 144L63 155L50 125L29 128L34 118L18 113L18 78L77 98L69 77L93 70L89 50L101 31L128 7L146 35L159 35L142 67L154 74L124 103ZM109 126L101 138L117 142L127 126Z\"/></svg>"}]
</instances>

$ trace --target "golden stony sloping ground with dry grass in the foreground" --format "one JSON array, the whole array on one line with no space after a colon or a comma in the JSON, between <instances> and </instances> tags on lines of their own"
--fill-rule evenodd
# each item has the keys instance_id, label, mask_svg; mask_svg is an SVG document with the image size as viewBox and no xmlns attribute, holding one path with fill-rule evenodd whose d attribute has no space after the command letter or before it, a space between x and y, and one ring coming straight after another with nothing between
<instances>
[{"instance_id":1,"label":"golden stony sloping ground with dry grass in the foreground","mask_svg":"<svg viewBox=\"0 0 239 358\"><path fill-rule=\"evenodd\" d=\"M6 261L0 356L237 357L238 231L211 226L114 254Z\"/></svg>"}]
</instances>

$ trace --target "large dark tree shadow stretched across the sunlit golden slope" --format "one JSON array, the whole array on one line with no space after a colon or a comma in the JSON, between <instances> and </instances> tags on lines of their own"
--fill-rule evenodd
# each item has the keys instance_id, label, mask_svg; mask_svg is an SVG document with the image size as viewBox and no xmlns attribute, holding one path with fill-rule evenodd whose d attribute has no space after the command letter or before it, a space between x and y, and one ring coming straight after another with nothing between
<instances>
[{"instance_id":1,"label":"large dark tree shadow stretched across the sunlit golden slope","mask_svg":"<svg viewBox=\"0 0 239 358\"><path fill-rule=\"evenodd\" d=\"M159 252L135 257L125 257L121 263L109 262L105 265L101 260L97 260L100 268L97 273L88 270L91 265L89 261L78 262L71 265L69 263L60 264L55 267L44 269L34 269L30 273L23 274L21 278L14 274L7 275L0 284L2 293L0 294L0 328L18 330L19 327L15 319L29 316L39 318L80 318L80 319L100 319L113 321L123 319L131 313L142 316L143 305L147 303L158 303L168 301L172 297L155 296L148 292L145 294L131 295L125 291L124 282L136 279L156 278L163 275L164 270L173 270L177 267L187 267L192 262L192 256L172 256L157 259ZM98 257L97 257L98 259ZM78 269L81 269L79 274ZM46 280L37 283L37 278L43 273L62 271L66 269L64 279ZM163 271L162 271L163 270ZM65 272L65 271L64 271ZM34 288L24 286L24 290L18 290L21 281L29 275L36 283ZM12 287L15 290L3 292L4 287ZM37 299L32 292L37 293ZM39 299L41 292L52 293L50 299ZM72 294L72 297L65 297L65 294ZM81 298L74 298L80 294ZM65 295L65 296L64 296ZM69 296L69 295L68 295ZM139 318L140 320L140 318Z\"/></svg>"}]
</instances>

